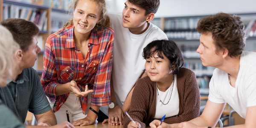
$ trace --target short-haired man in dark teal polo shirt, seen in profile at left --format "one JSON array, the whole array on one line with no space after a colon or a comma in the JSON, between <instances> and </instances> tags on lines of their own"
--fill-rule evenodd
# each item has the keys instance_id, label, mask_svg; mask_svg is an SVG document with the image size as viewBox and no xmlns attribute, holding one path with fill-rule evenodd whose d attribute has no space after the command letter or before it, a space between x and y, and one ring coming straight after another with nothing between
<instances>
[{"instance_id":1,"label":"short-haired man in dark teal polo shirt, seen in profile at left","mask_svg":"<svg viewBox=\"0 0 256 128\"><path fill-rule=\"evenodd\" d=\"M27 128L75 128L69 122L56 125L56 117L45 96L38 73L32 68L37 54L41 52L36 38L38 27L24 19L7 19L0 24L12 33L14 40L20 45L20 49L15 52L15 80L7 81L7 87L0 88L0 99L23 123L27 111L34 113L40 126L26 126Z\"/></svg>"}]
</instances>

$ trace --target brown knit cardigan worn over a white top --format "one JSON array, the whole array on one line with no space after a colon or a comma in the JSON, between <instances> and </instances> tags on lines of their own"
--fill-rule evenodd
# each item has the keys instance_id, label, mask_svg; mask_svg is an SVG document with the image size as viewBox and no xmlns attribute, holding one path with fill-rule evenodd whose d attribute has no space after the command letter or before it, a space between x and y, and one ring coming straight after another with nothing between
<instances>
[{"instance_id":1,"label":"brown knit cardigan worn over a white top","mask_svg":"<svg viewBox=\"0 0 256 128\"><path fill-rule=\"evenodd\" d=\"M189 121L200 115L200 93L192 70L181 67L177 74L177 90L179 95L179 113L176 116L165 118L163 122L168 124ZM157 92L156 84L148 76L138 79L131 97L131 107L128 112L134 121L139 122L141 128L145 128L154 120L156 111ZM172 101L169 104L172 104ZM125 115L124 128L131 122Z\"/></svg>"}]
</instances>

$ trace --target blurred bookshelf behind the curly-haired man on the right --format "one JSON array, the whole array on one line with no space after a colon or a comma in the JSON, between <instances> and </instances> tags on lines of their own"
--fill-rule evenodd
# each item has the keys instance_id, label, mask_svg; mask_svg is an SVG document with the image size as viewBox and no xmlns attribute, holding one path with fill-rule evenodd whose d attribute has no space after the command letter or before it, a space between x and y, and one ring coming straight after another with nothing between
<instances>
[{"instance_id":1,"label":"blurred bookshelf behind the curly-haired man on the right","mask_svg":"<svg viewBox=\"0 0 256 128\"><path fill-rule=\"evenodd\" d=\"M247 35L245 51L256 52L256 12L236 14L241 17ZM183 67L194 71L197 76L198 86L201 94L209 94L209 79L212 76L213 67L204 67L201 63L199 53L196 52L200 42L200 34L196 27L198 20L207 15L187 16L187 17L161 17L154 18L151 23L158 26L166 33L170 40L180 48L183 54Z\"/></svg>"}]
</instances>

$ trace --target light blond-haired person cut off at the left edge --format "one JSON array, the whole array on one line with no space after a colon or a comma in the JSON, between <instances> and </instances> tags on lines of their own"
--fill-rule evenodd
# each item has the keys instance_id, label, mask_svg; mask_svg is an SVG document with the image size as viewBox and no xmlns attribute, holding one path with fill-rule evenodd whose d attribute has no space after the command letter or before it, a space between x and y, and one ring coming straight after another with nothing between
<instances>
[{"instance_id":1,"label":"light blond-haired person cut off at the left edge","mask_svg":"<svg viewBox=\"0 0 256 128\"><path fill-rule=\"evenodd\" d=\"M7 78L12 78L13 58L17 49L19 45L13 40L12 34L0 25L0 87L6 87ZM1 128L25 128L15 114L3 104L1 98L0 113Z\"/></svg>"}]
</instances>

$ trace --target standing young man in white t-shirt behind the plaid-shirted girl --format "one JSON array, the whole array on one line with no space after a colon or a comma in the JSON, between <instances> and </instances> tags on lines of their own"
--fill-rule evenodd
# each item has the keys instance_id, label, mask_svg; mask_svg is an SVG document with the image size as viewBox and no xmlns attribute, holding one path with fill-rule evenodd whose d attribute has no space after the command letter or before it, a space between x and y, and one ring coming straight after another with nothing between
<instances>
[{"instance_id":1,"label":"standing young man in white t-shirt behind the plaid-shirted girl","mask_svg":"<svg viewBox=\"0 0 256 128\"><path fill-rule=\"evenodd\" d=\"M159 5L160 0L127 0L122 13L109 15L111 28L115 32L111 75L112 103L100 108L109 118L103 123L122 124L124 112L130 108L134 84L137 79L146 76L143 72L143 48L153 40L168 39L161 29L150 23Z\"/></svg>"}]
</instances>

